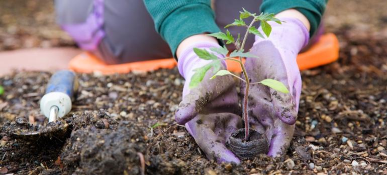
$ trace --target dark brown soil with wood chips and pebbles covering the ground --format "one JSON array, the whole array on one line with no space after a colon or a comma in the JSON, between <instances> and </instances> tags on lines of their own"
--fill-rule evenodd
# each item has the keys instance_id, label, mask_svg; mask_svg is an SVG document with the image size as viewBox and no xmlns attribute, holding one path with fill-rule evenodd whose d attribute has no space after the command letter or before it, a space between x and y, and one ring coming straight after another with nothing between
<instances>
[{"instance_id":1,"label":"dark brown soil with wood chips and pebbles covering the ground","mask_svg":"<svg viewBox=\"0 0 387 175\"><path fill-rule=\"evenodd\" d=\"M38 141L20 138L12 134L15 128L31 131L50 126L40 114L39 99L51 73L16 72L0 77L6 91L0 96L0 174L140 174L142 164L146 174L387 174L387 10L382 10L383 2L353 0L341 5L340 0L330 1L328 12L337 15L326 17L327 29L339 37L340 58L302 72L296 132L281 157L260 154L240 165L208 160L184 126L174 121L183 84L177 69L79 74L80 89L72 111L58 121L59 127L68 124L69 133L42 136ZM11 1L0 3L0 12L18 11L10 6ZM47 7L51 1L29 3L29 9L52 12ZM352 9L357 15L351 15ZM368 12L372 17L364 17ZM34 14L41 16L39 26L47 24L46 13ZM28 22L15 30L12 22L19 18L1 15L0 39L14 40L0 42L0 49L27 47L30 41L21 42L36 35L37 46L42 46L41 40L54 43L51 46L66 45L55 42L63 33L43 37L36 34L42 28L25 29Z\"/></svg>"}]
</instances>

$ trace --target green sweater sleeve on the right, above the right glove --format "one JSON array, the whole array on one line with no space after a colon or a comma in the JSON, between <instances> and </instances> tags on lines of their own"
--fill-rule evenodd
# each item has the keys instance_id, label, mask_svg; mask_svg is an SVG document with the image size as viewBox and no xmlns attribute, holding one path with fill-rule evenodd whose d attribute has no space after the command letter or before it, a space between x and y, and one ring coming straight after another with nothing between
<instances>
[{"instance_id":1,"label":"green sweater sleeve on the right, above the right glove","mask_svg":"<svg viewBox=\"0 0 387 175\"><path fill-rule=\"evenodd\" d=\"M262 12L278 13L285 9L295 8L303 13L311 24L310 37L320 25L328 0L263 0Z\"/></svg>"}]
</instances>

